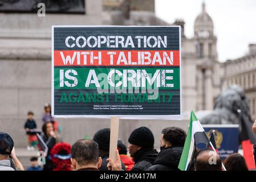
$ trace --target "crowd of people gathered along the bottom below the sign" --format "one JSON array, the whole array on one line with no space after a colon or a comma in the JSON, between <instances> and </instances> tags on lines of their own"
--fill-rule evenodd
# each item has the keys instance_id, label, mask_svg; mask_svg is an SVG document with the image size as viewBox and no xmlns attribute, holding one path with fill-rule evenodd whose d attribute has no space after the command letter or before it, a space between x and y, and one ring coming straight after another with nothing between
<instances>
[{"instance_id":1,"label":"crowd of people gathered along the bottom below the sign","mask_svg":"<svg viewBox=\"0 0 256 182\"><path fill-rule=\"evenodd\" d=\"M178 127L162 129L160 151L155 145L155 138L148 127L139 127L132 131L126 147L122 140L117 142L115 159L109 158L110 129L100 129L92 139L80 139L74 144L63 142L58 133L58 125L51 118L51 107L46 105L43 114L43 126L40 137L46 144L48 151L43 168L38 165L38 158L31 158L28 171L177 171L178 164L185 144L186 132ZM31 146L31 135L35 135L36 123L33 113L28 113L25 123L28 135L28 147ZM256 121L253 125L256 133ZM40 148L39 150L42 150ZM30 148L31 150L31 148ZM128 154L129 152L129 154ZM209 163L214 155L216 162ZM245 159L240 154L231 154L224 161L211 148L197 150L193 166L196 171L247 171ZM0 170L25 170L19 162L13 139L9 134L0 133Z\"/></svg>"}]
</instances>

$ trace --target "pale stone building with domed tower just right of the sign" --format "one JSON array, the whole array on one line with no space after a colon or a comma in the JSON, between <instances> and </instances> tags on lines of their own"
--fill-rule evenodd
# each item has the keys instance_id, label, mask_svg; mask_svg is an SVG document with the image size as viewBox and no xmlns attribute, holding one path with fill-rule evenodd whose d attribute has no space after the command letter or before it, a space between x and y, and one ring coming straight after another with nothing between
<instances>
[{"instance_id":1,"label":"pale stone building with domed tower just right of the sign","mask_svg":"<svg viewBox=\"0 0 256 182\"><path fill-rule=\"evenodd\" d=\"M184 27L184 22L178 21ZM183 25L183 26L182 26ZM184 35L184 33L183 33ZM194 36L182 37L182 110L188 117L191 110L212 110L221 89L222 64L218 61L217 37L212 18L202 12L194 22Z\"/></svg>"}]
</instances>

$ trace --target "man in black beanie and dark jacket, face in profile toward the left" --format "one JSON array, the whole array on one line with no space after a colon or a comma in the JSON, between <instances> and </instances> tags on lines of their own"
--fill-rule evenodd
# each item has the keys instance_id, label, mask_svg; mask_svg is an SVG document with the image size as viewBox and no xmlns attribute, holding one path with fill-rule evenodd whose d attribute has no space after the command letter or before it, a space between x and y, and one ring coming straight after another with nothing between
<instances>
[{"instance_id":1,"label":"man in black beanie and dark jacket, face in profile toward the left","mask_svg":"<svg viewBox=\"0 0 256 182\"><path fill-rule=\"evenodd\" d=\"M151 167L157 156L152 131L145 126L139 127L132 131L128 142L129 153L135 162L131 171L145 171L145 169Z\"/></svg>"}]
</instances>

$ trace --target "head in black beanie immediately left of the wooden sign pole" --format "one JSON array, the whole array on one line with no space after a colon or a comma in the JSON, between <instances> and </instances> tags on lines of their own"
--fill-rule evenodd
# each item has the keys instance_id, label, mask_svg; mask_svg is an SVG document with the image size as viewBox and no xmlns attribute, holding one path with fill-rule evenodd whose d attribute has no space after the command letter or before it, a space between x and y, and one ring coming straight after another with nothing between
<instances>
[{"instance_id":1,"label":"head in black beanie immediately left of the wooden sign pole","mask_svg":"<svg viewBox=\"0 0 256 182\"><path fill-rule=\"evenodd\" d=\"M94 134L93 140L99 145L100 156L109 154L110 129L100 129Z\"/></svg>"}]
</instances>

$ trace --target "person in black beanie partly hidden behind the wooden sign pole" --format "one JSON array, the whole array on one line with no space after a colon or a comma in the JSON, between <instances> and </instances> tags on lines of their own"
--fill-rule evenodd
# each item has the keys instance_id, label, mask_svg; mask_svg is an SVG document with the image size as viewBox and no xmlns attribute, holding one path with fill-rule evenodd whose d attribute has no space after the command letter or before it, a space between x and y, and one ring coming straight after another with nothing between
<instances>
[{"instance_id":1,"label":"person in black beanie partly hidden behind the wooden sign pole","mask_svg":"<svg viewBox=\"0 0 256 182\"><path fill-rule=\"evenodd\" d=\"M93 140L99 144L99 154L102 159L99 170L108 171L107 159L109 158L110 129L100 129L95 133ZM124 163L121 163L121 167L125 170Z\"/></svg>"}]
</instances>

